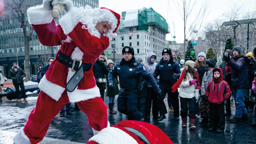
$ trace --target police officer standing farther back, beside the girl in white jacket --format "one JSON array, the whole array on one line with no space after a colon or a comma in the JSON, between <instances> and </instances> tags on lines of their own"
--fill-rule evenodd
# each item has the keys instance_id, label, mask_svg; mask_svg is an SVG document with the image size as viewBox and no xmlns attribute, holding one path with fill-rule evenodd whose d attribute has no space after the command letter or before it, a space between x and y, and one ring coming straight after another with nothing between
<instances>
[{"instance_id":1,"label":"police officer standing farther back, beside the girl in white jacket","mask_svg":"<svg viewBox=\"0 0 256 144\"><path fill-rule=\"evenodd\" d=\"M174 109L174 119L179 121L179 92L178 90L172 93L172 85L180 78L180 64L176 60L173 60L171 49L164 49L162 52L163 58L156 64L156 70L153 77L160 75L159 88L161 90L161 95L157 96L157 106L159 108L160 116L157 121L162 121L166 118L167 110L164 104L164 98L166 93L169 95L172 107Z\"/></svg>"}]
</instances>

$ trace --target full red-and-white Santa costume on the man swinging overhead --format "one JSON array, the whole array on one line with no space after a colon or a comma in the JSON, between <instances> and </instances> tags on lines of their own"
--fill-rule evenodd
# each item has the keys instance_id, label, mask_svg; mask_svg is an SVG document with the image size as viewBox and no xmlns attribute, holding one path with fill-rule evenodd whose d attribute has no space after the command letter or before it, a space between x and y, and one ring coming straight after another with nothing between
<instances>
[{"instance_id":1,"label":"full red-and-white Santa costume on the man swinging overhead","mask_svg":"<svg viewBox=\"0 0 256 144\"><path fill-rule=\"evenodd\" d=\"M120 15L106 8L72 6L56 26L52 10L45 9L46 1L51 0L28 8L28 22L41 44L61 45L61 48L38 85L41 92L36 107L24 128L13 138L15 144L35 144L43 140L52 119L68 102L77 102L87 114L94 134L109 126L107 106L100 98L92 66L107 49L109 39L117 36ZM111 28L101 35L95 26L103 21L108 21Z\"/></svg>"}]
</instances>

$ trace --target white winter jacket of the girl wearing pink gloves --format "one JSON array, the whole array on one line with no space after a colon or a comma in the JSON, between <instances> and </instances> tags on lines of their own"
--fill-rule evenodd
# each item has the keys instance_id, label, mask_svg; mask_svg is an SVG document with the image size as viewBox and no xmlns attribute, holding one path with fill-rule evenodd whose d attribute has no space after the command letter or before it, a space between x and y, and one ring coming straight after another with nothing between
<instances>
[{"instance_id":1,"label":"white winter jacket of the girl wearing pink gloves","mask_svg":"<svg viewBox=\"0 0 256 144\"><path fill-rule=\"evenodd\" d=\"M185 70L185 69L184 69ZM194 78L191 76L190 73L188 73L188 77L187 80L184 82L184 80L182 80L181 84L180 84L180 92L179 92L179 96L182 98L193 98L196 95L196 84L194 85L189 85L189 81L193 80Z\"/></svg>"}]
</instances>

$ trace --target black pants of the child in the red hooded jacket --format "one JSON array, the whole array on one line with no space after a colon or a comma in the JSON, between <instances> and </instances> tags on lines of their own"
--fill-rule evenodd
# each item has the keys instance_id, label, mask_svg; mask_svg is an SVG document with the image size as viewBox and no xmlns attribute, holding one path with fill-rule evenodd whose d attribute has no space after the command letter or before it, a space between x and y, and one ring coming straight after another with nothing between
<instances>
[{"instance_id":1,"label":"black pants of the child in the red hooded jacket","mask_svg":"<svg viewBox=\"0 0 256 144\"><path fill-rule=\"evenodd\" d=\"M225 129L225 108L224 104L210 103L210 127L213 129Z\"/></svg>"}]
</instances>

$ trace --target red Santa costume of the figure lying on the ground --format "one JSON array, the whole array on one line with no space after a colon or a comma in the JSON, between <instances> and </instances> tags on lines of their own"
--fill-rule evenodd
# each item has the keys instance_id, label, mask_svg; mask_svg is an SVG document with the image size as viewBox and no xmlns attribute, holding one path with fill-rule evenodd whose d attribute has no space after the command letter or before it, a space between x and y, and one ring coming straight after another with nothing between
<instances>
[{"instance_id":1,"label":"red Santa costume of the figure lying on the ground","mask_svg":"<svg viewBox=\"0 0 256 144\"><path fill-rule=\"evenodd\" d=\"M123 120L93 136L87 144L173 144L157 126Z\"/></svg>"}]
</instances>

